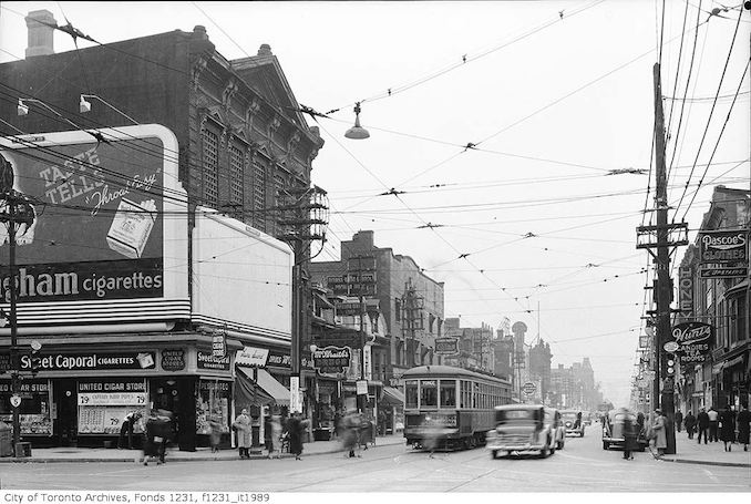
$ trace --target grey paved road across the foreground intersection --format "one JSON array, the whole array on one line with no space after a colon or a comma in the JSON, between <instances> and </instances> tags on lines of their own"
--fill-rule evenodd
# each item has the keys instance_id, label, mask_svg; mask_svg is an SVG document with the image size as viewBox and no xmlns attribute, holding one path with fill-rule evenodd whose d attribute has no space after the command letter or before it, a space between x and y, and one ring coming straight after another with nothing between
<instances>
[{"instance_id":1,"label":"grey paved road across the foreground intersection","mask_svg":"<svg viewBox=\"0 0 751 504\"><path fill-rule=\"evenodd\" d=\"M484 449L415 452L378 446L361 459L343 454L302 461L258 460L134 463L8 464L3 490L264 491L264 492L749 492L748 467L676 464L649 452L625 461L596 435L568 439L545 460L491 460ZM734 497L731 497L734 498Z\"/></svg>"}]
</instances>

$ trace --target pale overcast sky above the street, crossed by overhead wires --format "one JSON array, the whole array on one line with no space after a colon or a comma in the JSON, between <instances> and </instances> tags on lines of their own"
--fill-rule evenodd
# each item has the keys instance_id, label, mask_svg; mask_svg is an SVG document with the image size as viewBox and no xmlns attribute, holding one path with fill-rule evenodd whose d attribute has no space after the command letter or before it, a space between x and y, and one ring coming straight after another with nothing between
<instances>
[{"instance_id":1,"label":"pale overcast sky above the street, crossed by overhead wires","mask_svg":"<svg viewBox=\"0 0 751 504\"><path fill-rule=\"evenodd\" d=\"M320 120L313 162L331 206L319 258L372 229L377 246L445 282L446 317L522 320L527 341L551 343L554 366L589 357L606 397L625 405L652 279L636 227L654 207L660 52L670 219L693 239L713 186L749 188L751 16L739 22L741 1L728 0L710 17L723 6L703 0L697 29L699 3L667 0L662 21L655 0L2 2L0 61L23 58L23 16L38 9L102 43L196 24L230 60L268 43L298 102L336 111ZM54 42L74 49L63 33ZM343 137L358 101L369 140ZM644 174L609 174L624 168ZM392 187L403 194L379 196Z\"/></svg>"}]
</instances>

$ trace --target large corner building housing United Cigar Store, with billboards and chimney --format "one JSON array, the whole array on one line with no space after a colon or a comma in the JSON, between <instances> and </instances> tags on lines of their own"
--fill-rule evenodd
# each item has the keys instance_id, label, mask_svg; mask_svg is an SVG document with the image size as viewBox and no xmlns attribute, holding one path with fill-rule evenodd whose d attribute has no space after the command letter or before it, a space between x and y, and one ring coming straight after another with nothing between
<instances>
[{"instance_id":1,"label":"large corner building housing United Cigar Store, with billboards and chimney","mask_svg":"<svg viewBox=\"0 0 751 504\"><path fill-rule=\"evenodd\" d=\"M30 30L51 32L33 22L38 17L50 22L51 14L30 13ZM30 35L34 43L52 39ZM31 99L27 115L17 114L19 99ZM82 100L89 112L78 109ZM41 202L33 243L16 250L17 277L24 276L18 343L25 441L101 446L115 441L127 412L162 408L175 414L181 450L208 444L212 414L229 445L239 405L253 409L254 435L263 440L263 407L289 403L280 391L289 383L295 258L278 239L287 229L274 207L310 186L323 145L299 110L268 45L229 61L203 27L59 54L30 47L24 60L0 64L0 115L10 124L0 127L0 154L13 165L14 188ZM47 157L23 161L19 146ZM96 194L101 212L85 199ZM128 210L150 216L142 227L124 227L141 239L113 232L117 212ZM8 255L6 240L2 264ZM37 276L33 294L54 296L31 295L32 271L65 267L101 288L73 295ZM4 274L6 312L10 284ZM0 333L0 419L8 420L9 329ZM42 344L39 354L29 350L32 340ZM255 348L266 350L264 382L235 368ZM249 394L238 394L248 389L238 380L250 380Z\"/></svg>"}]
</instances>

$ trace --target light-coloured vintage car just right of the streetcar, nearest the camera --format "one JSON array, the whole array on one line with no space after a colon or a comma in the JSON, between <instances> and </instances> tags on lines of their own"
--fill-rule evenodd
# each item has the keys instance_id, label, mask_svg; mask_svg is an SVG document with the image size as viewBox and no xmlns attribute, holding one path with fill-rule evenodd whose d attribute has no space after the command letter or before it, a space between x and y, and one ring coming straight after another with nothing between
<instances>
[{"instance_id":1,"label":"light-coloured vintage car just right of the streetcar, nearest the camera","mask_svg":"<svg viewBox=\"0 0 751 504\"><path fill-rule=\"evenodd\" d=\"M555 425L556 410L542 404L495 407L495 429L485 435L485 448L493 459L501 454L537 452L542 459L555 453L560 434Z\"/></svg>"}]
</instances>

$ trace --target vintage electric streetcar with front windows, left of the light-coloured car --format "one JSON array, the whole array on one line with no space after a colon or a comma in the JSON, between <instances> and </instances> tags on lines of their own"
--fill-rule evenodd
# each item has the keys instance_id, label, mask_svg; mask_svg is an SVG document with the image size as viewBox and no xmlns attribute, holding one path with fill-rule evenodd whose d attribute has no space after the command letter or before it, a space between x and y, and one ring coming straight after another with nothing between
<instances>
[{"instance_id":1,"label":"vintage electric streetcar with front windows, left of the light-coloured car","mask_svg":"<svg viewBox=\"0 0 751 504\"><path fill-rule=\"evenodd\" d=\"M421 366L404 380L404 438L416 449L471 449L495 426L494 408L511 402L507 380L449 366Z\"/></svg>"}]
</instances>

